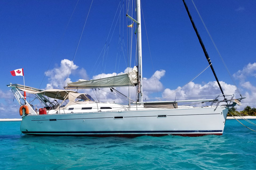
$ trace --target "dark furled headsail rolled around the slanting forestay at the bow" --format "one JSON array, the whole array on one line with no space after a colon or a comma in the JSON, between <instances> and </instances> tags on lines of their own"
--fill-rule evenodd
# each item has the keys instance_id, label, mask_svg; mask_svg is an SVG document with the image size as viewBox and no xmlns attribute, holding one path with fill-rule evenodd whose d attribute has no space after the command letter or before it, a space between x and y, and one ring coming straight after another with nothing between
<instances>
[{"instance_id":1,"label":"dark furled headsail rolled around the slanting forestay at the bow","mask_svg":"<svg viewBox=\"0 0 256 170\"><path fill-rule=\"evenodd\" d=\"M209 65L210 65L210 67L211 67L211 70L213 71L213 75L214 75L214 77L215 77L215 79L216 79L216 81L217 81L217 83L218 83L218 85L219 85L219 88L221 89L221 92L222 92L223 97L224 97L224 100L225 100L225 95L224 95L223 90L222 90L222 88L221 88L221 84L219 84L219 80L218 80L217 75L216 75L216 73L215 73L215 71L214 71L214 69L213 69L213 64L211 63L210 57L209 57L209 55L208 55L208 53L207 53L207 51L206 51L206 49L205 49L205 46L203 45L203 41L202 41L202 39L201 39L201 37L200 37L198 31L197 31L197 27L195 26L195 23L193 22L192 16L191 16L190 13L189 13L189 9L187 8L187 5L186 5L185 0L182 0L182 1L183 1L184 5L185 5L185 8L186 8L186 10L187 10L187 14L189 15L189 18L190 18L190 21L191 21L191 23L192 23L192 25L193 25L193 28L194 28L194 30L195 30L195 33L197 34L197 38L198 38L198 40L199 40L199 43L201 44L202 49L203 49L203 52L205 53L205 57L206 57L206 59L207 59Z\"/></svg>"}]
</instances>

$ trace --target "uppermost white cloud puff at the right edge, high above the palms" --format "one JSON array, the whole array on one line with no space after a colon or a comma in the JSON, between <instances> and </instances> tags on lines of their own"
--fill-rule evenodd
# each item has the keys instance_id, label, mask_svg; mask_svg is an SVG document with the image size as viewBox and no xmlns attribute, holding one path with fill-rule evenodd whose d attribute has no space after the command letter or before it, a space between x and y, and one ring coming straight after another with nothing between
<instances>
[{"instance_id":1,"label":"uppermost white cloud puff at the right edge, high above the palms","mask_svg":"<svg viewBox=\"0 0 256 170\"><path fill-rule=\"evenodd\" d=\"M247 66L243 67L243 70L238 70L235 74L233 74L233 77L241 81L244 81L250 76L256 77L256 62L253 64L247 64Z\"/></svg>"}]
</instances>

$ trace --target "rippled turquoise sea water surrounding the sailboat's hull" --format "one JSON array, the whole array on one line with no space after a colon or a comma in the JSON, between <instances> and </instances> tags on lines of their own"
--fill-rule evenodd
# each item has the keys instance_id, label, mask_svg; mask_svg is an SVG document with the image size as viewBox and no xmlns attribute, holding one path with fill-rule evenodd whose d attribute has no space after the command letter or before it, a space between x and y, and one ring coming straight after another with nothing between
<instances>
[{"instance_id":1,"label":"rippled turquoise sea water surrounding the sailboat's hull","mask_svg":"<svg viewBox=\"0 0 256 170\"><path fill-rule=\"evenodd\" d=\"M256 169L256 132L236 120L203 137L36 137L19 126L0 122L0 169Z\"/></svg>"}]
</instances>

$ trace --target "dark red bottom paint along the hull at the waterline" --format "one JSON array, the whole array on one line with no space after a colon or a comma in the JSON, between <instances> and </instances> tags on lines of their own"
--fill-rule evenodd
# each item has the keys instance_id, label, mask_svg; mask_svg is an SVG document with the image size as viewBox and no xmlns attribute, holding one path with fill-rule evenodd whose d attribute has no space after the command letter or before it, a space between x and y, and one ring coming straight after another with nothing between
<instances>
[{"instance_id":1,"label":"dark red bottom paint along the hull at the waterline","mask_svg":"<svg viewBox=\"0 0 256 170\"><path fill-rule=\"evenodd\" d=\"M87 137L125 137L125 138L133 138L139 136L167 136L167 135L175 135L175 136L189 136L189 137L197 137L197 136L205 136L205 135L222 135L222 133L188 133L188 134L72 134L72 135L64 135L64 134L28 134L35 136L87 136Z\"/></svg>"}]
</instances>

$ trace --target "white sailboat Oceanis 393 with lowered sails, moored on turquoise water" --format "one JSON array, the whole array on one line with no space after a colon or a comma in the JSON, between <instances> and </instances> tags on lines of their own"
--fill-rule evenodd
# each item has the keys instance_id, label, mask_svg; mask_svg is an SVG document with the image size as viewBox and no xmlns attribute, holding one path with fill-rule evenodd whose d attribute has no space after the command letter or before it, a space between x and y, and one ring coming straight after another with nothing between
<instances>
[{"instance_id":1,"label":"white sailboat Oceanis 393 with lowered sails, moored on turquoise water","mask_svg":"<svg viewBox=\"0 0 256 170\"><path fill-rule=\"evenodd\" d=\"M21 105L21 132L23 134L96 137L223 134L229 108L236 104L240 105L242 98L234 99L234 95L224 94L221 90L222 95L214 99L143 101L140 10L140 0L136 0L136 20L126 15L137 25L138 39L138 66L127 73L94 80L81 79L68 83L64 90L41 90L20 84L7 85ZM208 58L207 61L212 67ZM215 78L217 80L216 75ZM131 101L128 105L100 102L88 94L72 91L72 89L110 88L111 91L127 97L116 87L128 86L137 86L138 89L137 100ZM35 105L28 103L22 91L33 94L43 108L38 110ZM224 100L219 100L221 97L224 97ZM203 107L179 105L184 102L210 104Z\"/></svg>"}]
</instances>

